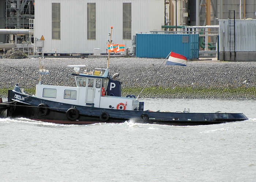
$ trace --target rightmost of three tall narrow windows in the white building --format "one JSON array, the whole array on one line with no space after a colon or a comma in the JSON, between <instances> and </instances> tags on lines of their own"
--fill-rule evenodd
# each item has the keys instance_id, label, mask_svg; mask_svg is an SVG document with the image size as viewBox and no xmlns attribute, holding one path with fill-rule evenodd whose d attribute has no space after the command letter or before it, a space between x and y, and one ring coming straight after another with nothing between
<instances>
[{"instance_id":1,"label":"rightmost of three tall narrow windows in the white building","mask_svg":"<svg viewBox=\"0 0 256 182\"><path fill-rule=\"evenodd\" d=\"M132 3L123 3L123 39L131 40Z\"/></svg>"}]
</instances>

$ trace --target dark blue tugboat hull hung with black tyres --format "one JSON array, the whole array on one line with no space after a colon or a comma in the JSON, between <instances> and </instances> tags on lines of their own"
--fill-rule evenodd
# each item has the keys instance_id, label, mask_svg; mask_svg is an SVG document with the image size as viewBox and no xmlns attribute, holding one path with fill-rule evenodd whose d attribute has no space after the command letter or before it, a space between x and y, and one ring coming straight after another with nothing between
<instances>
[{"instance_id":1,"label":"dark blue tugboat hull hung with black tyres","mask_svg":"<svg viewBox=\"0 0 256 182\"><path fill-rule=\"evenodd\" d=\"M39 99L14 90L8 91L8 102L12 102L7 109L8 117L60 124L123 123L132 120L137 123L186 126L248 119L242 113L152 112L77 106Z\"/></svg>"}]
</instances>

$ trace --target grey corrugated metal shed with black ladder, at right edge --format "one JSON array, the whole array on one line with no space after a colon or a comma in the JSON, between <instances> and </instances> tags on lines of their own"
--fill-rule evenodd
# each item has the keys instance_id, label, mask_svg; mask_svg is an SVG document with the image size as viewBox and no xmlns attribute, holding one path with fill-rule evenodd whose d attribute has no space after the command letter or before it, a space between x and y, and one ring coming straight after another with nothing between
<instances>
[{"instance_id":1,"label":"grey corrugated metal shed with black ladder, at right edge","mask_svg":"<svg viewBox=\"0 0 256 182\"><path fill-rule=\"evenodd\" d=\"M256 19L219 21L219 59L256 61Z\"/></svg>"}]
</instances>

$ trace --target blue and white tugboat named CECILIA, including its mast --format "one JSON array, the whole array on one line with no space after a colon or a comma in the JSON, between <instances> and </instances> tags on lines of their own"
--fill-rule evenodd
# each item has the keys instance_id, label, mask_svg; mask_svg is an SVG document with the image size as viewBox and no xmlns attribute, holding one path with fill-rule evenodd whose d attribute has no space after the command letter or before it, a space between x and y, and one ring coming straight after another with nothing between
<instances>
[{"instance_id":1,"label":"blue and white tugboat named CECILIA, including its mast","mask_svg":"<svg viewBox=\"0 0 256 182\"><path fill-rule=\"evenodd\" d=\"M121 83L116 80L119 74L109 75L109 55L107 68L79 73L80 67L85 65L69 65L75 70L71 76L76 87L39 82L35 95L30 95L17 83L13 90L8 90L8 102L0 103L0 117L24 117L60 124L122 123L132 119L137 123L179 126L248 119L242 113L144 111L144 102L139 102L134 95L121 96Z\"/></svg>"}]
</instances>

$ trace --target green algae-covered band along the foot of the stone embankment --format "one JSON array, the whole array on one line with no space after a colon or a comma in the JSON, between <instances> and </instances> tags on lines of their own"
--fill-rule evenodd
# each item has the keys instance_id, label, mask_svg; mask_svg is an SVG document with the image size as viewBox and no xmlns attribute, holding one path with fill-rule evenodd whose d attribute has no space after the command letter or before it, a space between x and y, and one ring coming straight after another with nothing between
<instances>
[{"instance_id":1,"label":"green algae-covered band along the foot of the stone embankment","mask_svg":"<svg viewBox=\"0 0 256 182\"><path fill-rule=\"evenodd\" d=\"M0 88L0 97L7 98L8 90L13 88ZM29 94L35 94L35 87L24 88ZM124 87L122 96L138 96L142 88ZM254 98L256 99L256 87L239 88L193 88L193 87L147 87L140 94L140 98Z\"/></svg>"}]
</instances>

